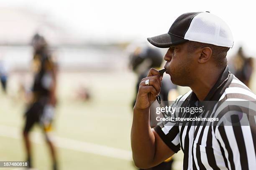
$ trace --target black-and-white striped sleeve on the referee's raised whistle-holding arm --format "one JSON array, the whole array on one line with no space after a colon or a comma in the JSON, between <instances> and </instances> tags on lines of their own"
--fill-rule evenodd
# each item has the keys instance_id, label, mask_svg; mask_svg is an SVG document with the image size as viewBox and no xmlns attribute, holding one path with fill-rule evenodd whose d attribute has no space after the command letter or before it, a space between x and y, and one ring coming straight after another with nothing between
<instances>
[{"instance_id":1,"label":"black-and-white striped sleeve on the referee's raised whistle-holding arm","mask_svg":"<svg viewBox=\"0 0 256 170\"><path fill-rule=\"evenodd\" d=\"M163 127L156 126L154 130L171 150L175 153L180 150L178 125L168 122Z\"/></svg>"}]
</instances>

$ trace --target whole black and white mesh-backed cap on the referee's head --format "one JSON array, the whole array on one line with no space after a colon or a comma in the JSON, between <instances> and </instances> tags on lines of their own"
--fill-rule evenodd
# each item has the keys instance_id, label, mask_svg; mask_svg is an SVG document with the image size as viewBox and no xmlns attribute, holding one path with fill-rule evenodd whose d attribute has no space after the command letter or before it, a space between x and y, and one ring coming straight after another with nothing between
<instances>
[{"instance_id":1,"label":"whole black and white mesh-backed cap on the referee's head","mask_svg":"<svg viewBox=\"0 0 256 170\"><path fill-rule=\"evenodd\" d=\"M169 48L188 40L233 47L233 36L228 25L209 12L185 13L172 24L168 33L147 38L154 46Z\"/></svg>"}]
</instances>

